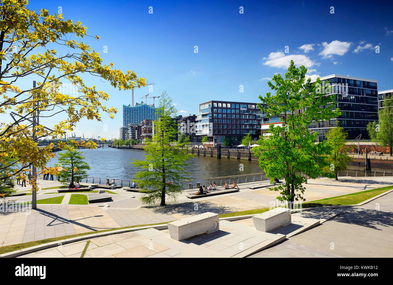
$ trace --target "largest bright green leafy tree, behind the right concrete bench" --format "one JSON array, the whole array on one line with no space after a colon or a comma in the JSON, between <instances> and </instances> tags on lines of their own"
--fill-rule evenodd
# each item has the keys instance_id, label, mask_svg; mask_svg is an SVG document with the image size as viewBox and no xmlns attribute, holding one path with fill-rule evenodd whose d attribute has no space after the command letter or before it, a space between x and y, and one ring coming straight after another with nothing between
<instances>
[{"instance_id":1,"label":"largest bright green leafy tree, behind the right concrete bench","mask_svg":"<svg viewBox=\"0 0 393 285\"><path fill-rule=\"evenodd\" d=\"M268 86L275 92L266 93L259 99L267 104L267 116L280 116L283 127L269 126L270 136L259 138L258 147L252 151L259 158L259 165L266 173L266 177L273 182L274 178L284 178L285 184L271 188L279 191L278 200L288 201L288 206L293 208L294 201L305 201L302 196L305 187L302 183L306 178L317 178L326 164L324 156L329 153L327 143L315 143L316 133L308 130L312 120L330 120L340 115L340 110L334 110L335 94L325 95L319 92L321 81L318 78L315 84L311 79L305 81L307 68L296 68L291 60L285 77L280 74L273 76L273 84L268 81ZM257 104L264 109L263 105Z\"/></svg>"}]
</instances>

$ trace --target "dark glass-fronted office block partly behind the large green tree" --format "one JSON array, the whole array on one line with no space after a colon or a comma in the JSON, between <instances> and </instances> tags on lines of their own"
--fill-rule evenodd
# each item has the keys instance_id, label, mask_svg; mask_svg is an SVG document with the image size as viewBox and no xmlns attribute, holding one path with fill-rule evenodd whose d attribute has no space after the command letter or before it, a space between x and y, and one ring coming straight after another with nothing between
<instances>
[{"instance_id":1,"label":"dark glass-fronted office block partly behind the large green tree","mask_svg":"<svg viewBox=\"0 0 393 285\"><path fill-rule=\"evenodd\" d=\"M340 108L341 116L329 121L312 121L310 131L318 132L318 141L325 140L326 133L338 121L348 132L348 140L359 135L362 135L361 139L368 139L367 124L378 121L378 81L338 74L321 77L322 86L327 81L332 85L330 94L336 94L335 107Z\"/></svg>"}]
</instances>

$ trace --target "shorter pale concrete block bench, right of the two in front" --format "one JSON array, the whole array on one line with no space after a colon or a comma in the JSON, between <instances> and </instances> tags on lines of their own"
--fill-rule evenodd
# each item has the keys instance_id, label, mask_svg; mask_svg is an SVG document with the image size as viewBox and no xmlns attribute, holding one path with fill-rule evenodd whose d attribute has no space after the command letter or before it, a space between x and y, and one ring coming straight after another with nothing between
<instances>
[{"instance_id":1,"label":"shorter pale concrete block bench, right of the two in front","mask_svg":"<svg viewBox=\"0 0 393 285\"><path fill-rule=\"evenodd\" d=\"M268 232L280 226L288 226L292 223L290 209L277 207L273 210L252 217L255 228L262 232Z\"/></svg>"}]
</instances>

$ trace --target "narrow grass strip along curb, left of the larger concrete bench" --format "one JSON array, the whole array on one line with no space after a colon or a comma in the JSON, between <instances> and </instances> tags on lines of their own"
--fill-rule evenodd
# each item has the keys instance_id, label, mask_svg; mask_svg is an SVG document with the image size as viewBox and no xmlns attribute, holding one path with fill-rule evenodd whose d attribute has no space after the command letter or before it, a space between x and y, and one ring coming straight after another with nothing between
<instances>
[{"instance_id":1,"label":"narrow grass strip along curb, left of the larger concrete bench","mask_svg":"<svg viewBox=\"0 0 393 285\"><path fill-rule=\"evenodd\" d=\"M168 222L160 222L158 224L167 224ZM126 228L137 228L140 226L154 226L157 224L140 224L136 226L126 226L123 228L113 228L113 229L108 229L108 230L101 230L101 231L91 231L91 232L86 232L82 234L75 234L75 235L64 235L62 237L53 237L51 239L41 239L39 241L29 241L28 243L18 243L16 245L6 245L6 246L0 246L0 254L4 254L6 252L11 252L15 250L20 250L22 248L28 248L30 246L36 246L36 245L42 245L43 243L50 243L52 241L61 241L62 239L70 239L71 237L81 237L83 235L90 235L90 234L98 234L98 233L103 233L103 232L110 232L113 230L122 230Z\"/></svg>"}]
</instances>

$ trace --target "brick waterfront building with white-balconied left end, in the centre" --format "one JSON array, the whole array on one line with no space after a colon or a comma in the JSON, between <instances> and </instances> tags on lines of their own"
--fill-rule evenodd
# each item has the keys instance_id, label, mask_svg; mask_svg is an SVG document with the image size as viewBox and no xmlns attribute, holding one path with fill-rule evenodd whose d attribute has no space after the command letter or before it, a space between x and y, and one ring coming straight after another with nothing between
<instances>
[{"instance_id":1,"label":"brick waterfront building with white-balconied left end, in the centre","mask_svg":"<svg viewBox=\"0 0 393 285\"><path fill-rule=\"evenodd\" d=\"M223 143L225 136L240 142L249 132L261 133L261 116L256 103L208 101L199 104L196 116L196 135L207 136L209 141Z\"/></svg>"}]
</instances>

